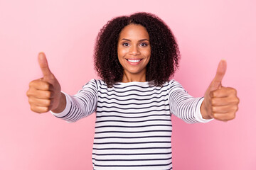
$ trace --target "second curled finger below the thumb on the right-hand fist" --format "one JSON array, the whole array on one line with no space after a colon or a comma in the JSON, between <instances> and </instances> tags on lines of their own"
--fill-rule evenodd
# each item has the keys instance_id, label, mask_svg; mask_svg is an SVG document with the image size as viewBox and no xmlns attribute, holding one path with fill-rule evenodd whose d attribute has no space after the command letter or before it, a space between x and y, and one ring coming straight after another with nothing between
<instances>
[{"instance_id":1,"label":"second curled finger below the thumb on the right-hand fist","mask_svg":"<svg viewBox=\"0 0 256 170\"><path fill-rule=\"evenodd\" d=\"M211 98L211 106L227 106L239 103L239 98L237 97L221 97L221 98Z\"/></svg>"}]
</instances>

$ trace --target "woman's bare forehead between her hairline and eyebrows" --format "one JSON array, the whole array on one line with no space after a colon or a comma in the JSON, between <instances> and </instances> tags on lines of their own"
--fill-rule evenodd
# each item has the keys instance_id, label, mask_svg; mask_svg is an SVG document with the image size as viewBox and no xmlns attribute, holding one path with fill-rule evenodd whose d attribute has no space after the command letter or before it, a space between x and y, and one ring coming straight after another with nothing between
<instances>
[{"instance_id":1,"label":"woman's bare forehead between her hairline and eyebrows","mask_svg":"<svg viewBox=\"0 0 256 170\"><path fill-rule=\"evenodd\" d=\"M119 39L126 38L129 40L142 40L148 39L149 40L149 33L146 31L144 26L139 24L129 24L125 26L120 34Z\"/></svg>"}]
</instances>

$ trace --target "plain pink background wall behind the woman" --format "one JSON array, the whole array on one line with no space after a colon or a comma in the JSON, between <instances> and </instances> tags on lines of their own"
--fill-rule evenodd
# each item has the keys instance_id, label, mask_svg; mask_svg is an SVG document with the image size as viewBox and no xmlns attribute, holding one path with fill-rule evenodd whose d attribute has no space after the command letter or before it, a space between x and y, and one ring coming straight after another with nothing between
<instances>
[{"instance_id":1,"label":"plain pink background wall behind the woman","mask_svg":"<svg viewBox=\"0 0 256 170\"><path fill-rule=\"evenodd\" d=\"M158 3L157 3L158 2ZM238 90L235 120L186 124L173 117L174 169L256 169L256 1L0 0L0 169L92 169L95 114L65 123L30 110L29 81L42 76L38 52L63 91L75 94L97 78L92 52L98 31L115 16L155 13L181 50L174 79L203 96L225 58L223 86Z\"/></svg>"}]
</instances>

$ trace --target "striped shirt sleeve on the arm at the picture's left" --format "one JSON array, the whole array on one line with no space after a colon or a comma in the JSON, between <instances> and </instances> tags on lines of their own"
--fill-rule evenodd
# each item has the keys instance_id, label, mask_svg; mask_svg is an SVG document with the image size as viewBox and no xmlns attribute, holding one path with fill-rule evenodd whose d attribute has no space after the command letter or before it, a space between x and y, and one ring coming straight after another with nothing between
<instances>
[{"instance_id":1,"label":"striped shirt sleeve on the arm at the picture's left","mask_svg":"<svg viewBox=\"0 0 256 170\"><path fill-rule=\"evenodd\" d=\"M65 93L63 93L65 94ZM55 117L68 122L75 122L95 112L97 107L97 81L92 79L78 94L70 96L65 94L66 107L62 113L53 113Z\"/></svg>"}]
</instances>

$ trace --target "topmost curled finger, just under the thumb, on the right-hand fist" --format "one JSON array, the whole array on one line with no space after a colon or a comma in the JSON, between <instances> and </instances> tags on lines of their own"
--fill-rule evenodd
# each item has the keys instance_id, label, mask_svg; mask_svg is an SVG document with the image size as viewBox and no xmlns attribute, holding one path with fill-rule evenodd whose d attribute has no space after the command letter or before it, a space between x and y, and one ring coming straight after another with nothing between
<instances>
[{"instance_id":1,"label":"topmost curled finger, just under the thumb, on the right-hand fist","mask_svg":"<svg viewBox=\"0 0 256 170\"><path fill-rule=\"evenodd\" d=\"M211 98L223 98L228 96L236 96L237 91L230 87L222 87L220 89L210 91Z\"/></svg>"}]
</instances>

